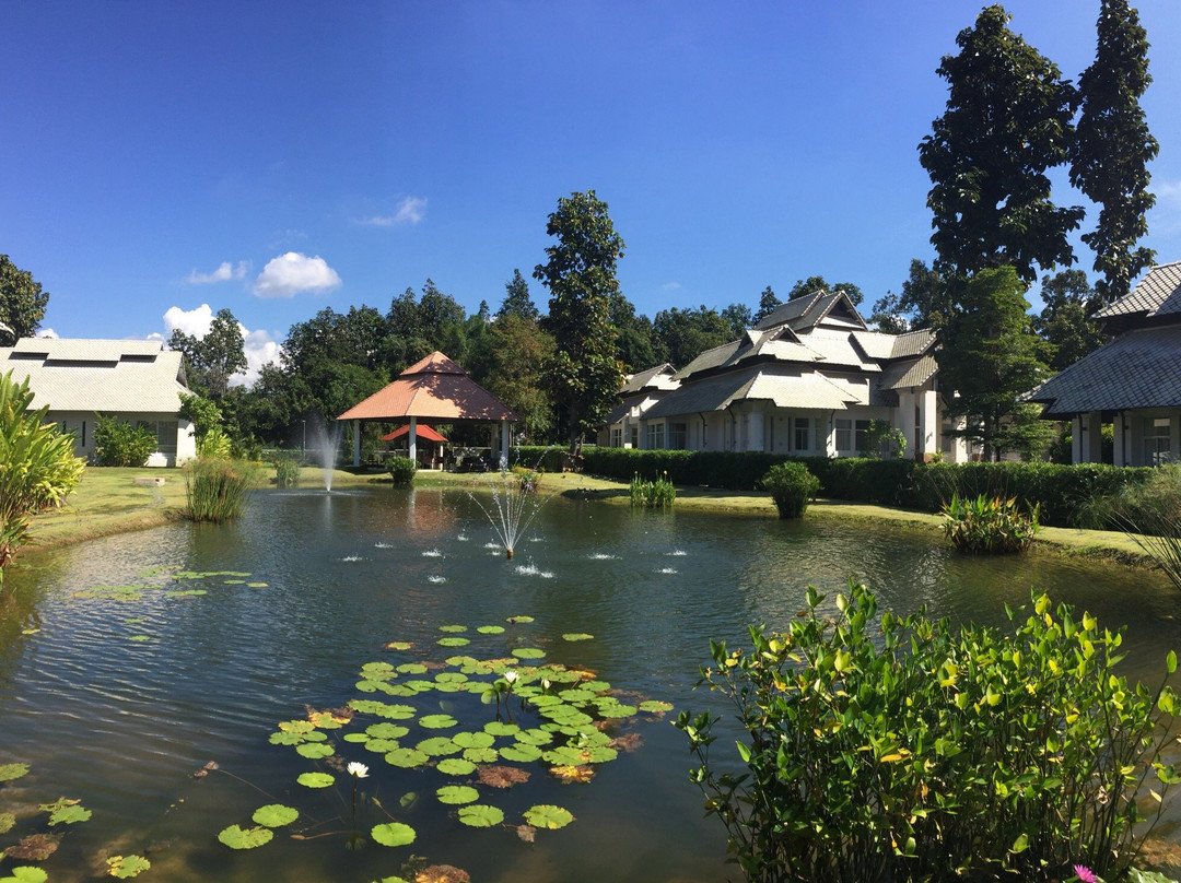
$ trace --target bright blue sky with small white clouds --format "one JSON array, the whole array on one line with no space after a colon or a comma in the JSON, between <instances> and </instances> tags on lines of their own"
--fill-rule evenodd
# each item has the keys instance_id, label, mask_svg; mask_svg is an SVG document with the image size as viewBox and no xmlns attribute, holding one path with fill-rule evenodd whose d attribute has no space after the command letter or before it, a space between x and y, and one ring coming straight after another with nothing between
<instances>
[{"instance_id":1,"label":"bright blue sky with small white clouds","mask_svg":"<svg viewBox=\"0 0 1181 883\"><path fill-rule=\"evenodd\" d=\"M1181 4L1136 7L1161 145L1143 242L1170 262ZM384 313L428 279L495 312L513 270L544 261L557 200L595 190L641 314L753 308L811 275L857 284L868 313L934 255L918 145L947 100L935 68L980 8L6 4L0 254L50 293L43 329L201 336L228 308L256 371L292 325ZM1094 59L1098 0L1005 8L1065 77ZM1061 203L1087 204L1056 181ZM1077 236L1076 253L1090 272Z\"/></svg>"}]
</instances>

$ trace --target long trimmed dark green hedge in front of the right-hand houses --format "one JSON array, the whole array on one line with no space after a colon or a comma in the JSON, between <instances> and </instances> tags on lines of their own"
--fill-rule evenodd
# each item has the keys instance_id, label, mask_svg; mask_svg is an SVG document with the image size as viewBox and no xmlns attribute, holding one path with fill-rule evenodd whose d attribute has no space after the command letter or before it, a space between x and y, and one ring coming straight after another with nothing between
<instances>
[{"instance_id":1,"label":"long trimmed dark green hedge in front of the right-hand houses","mask_svg":"<svg viewBox=\"0 0 1181 883\"><path fill-rule=\"evenodd\" d=\"M557 471L563 456L561 449L518 447L513 462L541 463L546 471ZM673 484L735 491L757 490L758 479L771 466L785 460L798 460L808 466L821 482L820 496L830 499L938 512L953 493L1017 497L1030 506L1040 504L1042 524L1053 526L1072 526L1075 512L1082 504L1142 484L1151 475L1150 467L1096 463L919 463L732 451L582 449L582 471L588 475L629 482L637 475L651 478L667 472Z\"/></svg>"}]
</instances>

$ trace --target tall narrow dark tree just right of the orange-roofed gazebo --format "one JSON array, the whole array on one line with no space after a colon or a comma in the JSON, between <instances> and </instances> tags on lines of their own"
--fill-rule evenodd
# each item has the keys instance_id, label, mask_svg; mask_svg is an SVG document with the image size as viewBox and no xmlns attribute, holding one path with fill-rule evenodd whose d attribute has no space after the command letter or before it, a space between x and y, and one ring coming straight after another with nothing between
<instances>
[{"instance_id":1,"label":"tall narrow dark tree just right of the orange-roofed gazebo","mask_svg":"<svg viewBox=\"0 0 1181 883\"><path fill-rule=\"evenodd\" d=\"M594 190L560 198L546 233L557 242L546 248L548 260L533 275L550 295L544 327L555 348L547 379L565 412L570 452L578 453L582 437L606 419L624 382L611 323L624 240Z\"/></svg>"}]
</instances>

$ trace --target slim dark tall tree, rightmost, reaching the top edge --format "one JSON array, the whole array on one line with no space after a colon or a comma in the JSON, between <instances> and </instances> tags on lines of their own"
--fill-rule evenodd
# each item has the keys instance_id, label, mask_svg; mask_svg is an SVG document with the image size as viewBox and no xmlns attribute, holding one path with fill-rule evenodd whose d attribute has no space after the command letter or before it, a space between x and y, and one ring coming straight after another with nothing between
<instances>
[{"instance_id":1,"label":"slim dark tall tree, rightmost, reaching the top edge","mask_svg":"<svg viewBox=\"0 0 1181 883\"><path fill-rule=\"evenodd\" d=\"M1070 183L1100 205L1098 223L1083 234L1095 251L1095 283L1104 303L1131 290L1131 280L1156 253L1136 241L1148 233L1148 163L1160 151L1140 98L1148 74L1148 37L1127 0L1103 0L1095 63L1078 79L1082 115L1070 150Z\"/></svg>"}]
</instances>

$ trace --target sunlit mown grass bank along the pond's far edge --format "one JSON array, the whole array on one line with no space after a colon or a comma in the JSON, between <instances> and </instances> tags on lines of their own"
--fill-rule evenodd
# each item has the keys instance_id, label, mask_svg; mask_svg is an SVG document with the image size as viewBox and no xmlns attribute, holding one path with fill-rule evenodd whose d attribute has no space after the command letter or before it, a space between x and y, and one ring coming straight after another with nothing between
<instances>
[{"instance_id":1,"label":"sunlit mown grass bank along the pond's far edge","mask_svg":"<svg viewBox=\"0 0 1181 883\"><path fill-rule=\"evenodd\" d=\"M272 470L268 470L268 479L273 484L274 476L270 472ZM155 483L159 480L163 483ZM420 471L415 477L415 485L424 488L478 485L479 482L479 476L454 472ZM333 488L387 484L390 478L384 472L335 470L332 476ZM302 469L300 486L322 488L324 471L311 466ZM609 505L631 504L627 484L594 476L546 473L541 479L541 491ZM183 518L184 506L184 473L181 470L91 467L86 470L78 489L63 509L37 517L33 522L32 543L26 547L25 552L167 524ZM770 497L755 491L678 488L677 509L761 518L777 517ZM942 523L938 515L828 499L820 499L809 506L807 517L879 523L885 521L918 530L929 530L935 536L941 534ZM1044 550L1063 554L1107 558L1133 565L1150 563L1134 541L1116 531L1043 528L1036 542Z\"/></svg>"}]
</instances>

